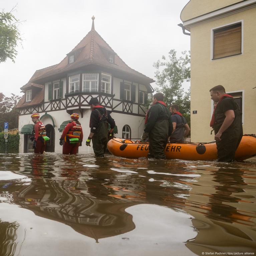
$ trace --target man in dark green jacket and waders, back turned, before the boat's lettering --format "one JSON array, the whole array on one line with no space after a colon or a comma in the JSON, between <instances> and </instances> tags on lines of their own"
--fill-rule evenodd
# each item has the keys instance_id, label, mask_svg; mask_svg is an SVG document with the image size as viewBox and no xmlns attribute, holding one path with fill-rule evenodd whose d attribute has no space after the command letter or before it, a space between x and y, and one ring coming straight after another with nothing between
<instances>
[{"instance_id":1,"label":"man in dark green jacket and waders, back turned, before the boat's lettering","mask_svg":"<svg viewBox=\"0 0 256 256\"><path fill-rule=\"evenodd\" d=\"M145 133L149 133L148 158L166 159L165 147L173 132L171 113L166 106L163 93L153 96L153 105L146 116Z\"/></svg>"}]
</instances>

